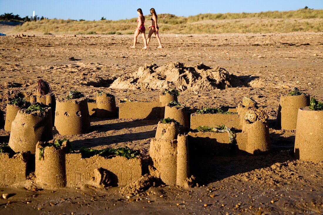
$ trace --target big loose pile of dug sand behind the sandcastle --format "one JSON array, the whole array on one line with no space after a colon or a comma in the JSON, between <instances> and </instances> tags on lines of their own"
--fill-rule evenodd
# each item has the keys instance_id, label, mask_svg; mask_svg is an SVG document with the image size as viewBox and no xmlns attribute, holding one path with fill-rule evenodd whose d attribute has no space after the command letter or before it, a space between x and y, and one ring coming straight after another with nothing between
<instances>
[{"instance_id":1,"label":"big loose pile of dug sand behind the sandcastle","mask_svg":"<svg viewBox=\"0 0 323 215\"><path fill-rule=\"evenodd\" d=\"M190 67L183 63L164 66L145 64L138 72L118 77L110 88L115 89L169 89L212 90L242 86L243 82L224 68L205 66L202 63Z\"/></svg>"}]
</instances>

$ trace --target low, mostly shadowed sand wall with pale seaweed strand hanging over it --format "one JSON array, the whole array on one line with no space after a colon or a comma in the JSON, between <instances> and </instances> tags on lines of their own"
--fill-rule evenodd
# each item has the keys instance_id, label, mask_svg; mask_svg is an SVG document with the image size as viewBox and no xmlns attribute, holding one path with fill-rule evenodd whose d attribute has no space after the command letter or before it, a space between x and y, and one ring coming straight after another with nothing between
<instances>
[{"instance_id":1,"label":"low, mostly shadowed sand wall with pale seaweed strand hanging over it","mask_svg":"<svg viewBox=\"0 0 323 215\"><path fill-rule=\"evenodd\" d=\"M227 155L232 152L228 149L228 133L219 132L189 132L188 134L189 149L192 153L207 153L215 155ZM236 144L234 151L245 151L247 136L243 132L236 133Z\"/></svg>"}]
</instances>

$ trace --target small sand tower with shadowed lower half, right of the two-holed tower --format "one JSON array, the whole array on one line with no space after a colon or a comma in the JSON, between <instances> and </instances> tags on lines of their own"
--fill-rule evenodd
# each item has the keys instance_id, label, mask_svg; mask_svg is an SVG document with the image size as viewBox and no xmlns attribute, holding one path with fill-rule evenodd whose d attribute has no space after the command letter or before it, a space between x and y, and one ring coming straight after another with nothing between
<instances>
[{"instance_id":1,"label":"small sand tower with shadowed lower half, right of the two-holed tower","mask_svg":"<svg viewBox=\"0 0 323 215\"><path fill-rule=\"evenodd\" d=\"M117 114L116 99L114 96L109 96L107 93L97 95L97 110L96 117L99 118L114 118Z\"/></svg>"}]
</instances>

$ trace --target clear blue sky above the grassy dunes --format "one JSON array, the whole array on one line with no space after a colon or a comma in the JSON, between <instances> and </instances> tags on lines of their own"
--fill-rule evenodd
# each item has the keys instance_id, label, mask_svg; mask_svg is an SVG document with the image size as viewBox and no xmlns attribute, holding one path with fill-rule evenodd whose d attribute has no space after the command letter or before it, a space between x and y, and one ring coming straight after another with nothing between
<instances>
[{"instance_id":1,"label":"clear blue sky above the grassy dunes","mask_svg":"<svg viewBox=\"0 0 323 215\"><path fill-rule=\"evenodd\" d=\"M157 14L189 16L203 13L241 13L297 10L308 6L323 9L323 0L0 0L0 14L14 13L57 19L110 20L133 18L140 7L144 14L154 7Z\"/></svg>"}]
</instances>

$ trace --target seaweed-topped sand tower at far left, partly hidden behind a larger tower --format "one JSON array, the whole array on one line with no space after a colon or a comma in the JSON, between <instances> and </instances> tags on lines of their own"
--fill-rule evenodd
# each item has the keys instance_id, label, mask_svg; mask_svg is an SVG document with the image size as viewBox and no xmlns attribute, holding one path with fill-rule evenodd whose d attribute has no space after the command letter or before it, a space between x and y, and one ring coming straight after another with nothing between
<instances>
[{"instance_id":1,"label":"seaweed-topped sand tower at far left, partly hidden behind a larger tower","mask_svg":"<svg viewBox=\"0 0 323 215\"><path fill-rule=\"evenodd\" d=\"M8 101L5 113L5 131L11 130L11 123L16 118L18 111L29 106L30 102L27 102L21 97Z\"/></svg>"}]
</instances>

